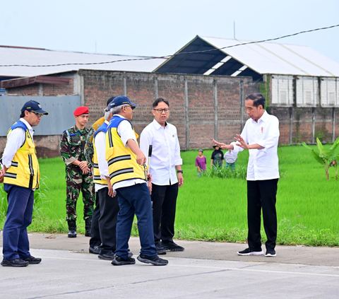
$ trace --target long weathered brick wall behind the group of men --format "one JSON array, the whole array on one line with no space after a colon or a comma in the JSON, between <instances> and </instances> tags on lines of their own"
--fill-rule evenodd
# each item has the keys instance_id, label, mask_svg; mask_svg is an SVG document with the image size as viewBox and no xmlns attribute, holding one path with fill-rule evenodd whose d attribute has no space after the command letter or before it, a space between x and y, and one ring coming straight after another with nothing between
<instances>
[{"instance_id":1,"label":"long weathered brick wall behind the group of men","mask_svg":"<svg viewBox=\"0 0 339 299\"><path fill-rule=\"evenodd\" d=\"M124 95L139 107L133 115L133 126L138 134L153 121L152 103L157 97L167 98L170 105L169 122L178 130L182 149L208 148L215 138L214 81L218 93L218 138L231 141L241 130L239 120L240 81L246 92L258 91L258 83L251 78L225 76L195 76L182 74L125 73L116 71L81 70L85 105L90 107L90 122L102 117L106 101ZM189 123L185 122L185 81ZM186 131L189 142L186 141Z\"/></svg>"}]
</instances>

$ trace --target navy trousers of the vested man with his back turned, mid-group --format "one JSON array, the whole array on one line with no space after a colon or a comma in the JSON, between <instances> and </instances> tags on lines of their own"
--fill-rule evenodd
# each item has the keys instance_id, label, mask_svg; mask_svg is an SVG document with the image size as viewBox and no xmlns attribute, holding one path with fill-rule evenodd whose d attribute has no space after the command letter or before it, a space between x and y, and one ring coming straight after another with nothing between
<instances>
[{"instance_id":1,"label":"navy trousers of the vested man with his back turned, mid-group","mask_svg":"<svg viewBox=\"0 0 339 299\"><path fill-rule=\"evenodd\" d=\"M130 187L118 188L117 196L120 211L118 213L117 250L115 253L123 259L128 259L129 237L134 214L136 214L141 244L140 253L154 257L157 255L157 249L154 245L152 204L147 184L133 184Z\"/></svg>"}]
</instances>

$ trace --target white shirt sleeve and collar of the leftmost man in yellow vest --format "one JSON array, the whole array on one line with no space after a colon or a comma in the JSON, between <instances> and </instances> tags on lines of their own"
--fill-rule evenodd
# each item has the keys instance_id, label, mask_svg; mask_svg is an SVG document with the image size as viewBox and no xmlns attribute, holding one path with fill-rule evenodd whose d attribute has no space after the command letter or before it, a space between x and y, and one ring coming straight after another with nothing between
<instances>
[{"instance_id":1,"label":"white shirt sleeve and collar of the leftmost man in yellow vest","mask_svg":"<svg viewBox=\"0 0 339 299\"><path fill-rule=\"evenodd\" d=\"M33 141L34 130L25 119L20 118L20 121L26 125ZM6 168L9 168L11 166L14 156L16 156L16 152L21 146L23 146L25 138L26 138L25 131L21 128L16 128L13 131L11 131L10 134L8 134L6 148L4 150L4 154L2 155L2 165L5 165Z\"/></svg>"}]
</instances>

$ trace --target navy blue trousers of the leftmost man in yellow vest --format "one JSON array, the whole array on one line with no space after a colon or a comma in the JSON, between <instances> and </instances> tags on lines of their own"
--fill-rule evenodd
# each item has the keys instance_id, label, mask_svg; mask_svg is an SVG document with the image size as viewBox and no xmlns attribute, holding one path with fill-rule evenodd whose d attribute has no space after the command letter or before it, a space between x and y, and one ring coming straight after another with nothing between
<instances>
[{"instance_id":1,"label":"navy blue trousers of the leftmost man in yellow vest","mask_svg":"<svg viewBox=\"0 0 339 299\"><path fill-rule=\"evenodd\" d=\"M34 191L14 184L4 184L7 192L7 218L3 232L4 259L30 257L27 227L32 223Z\"/></svg>"}]
</instances>

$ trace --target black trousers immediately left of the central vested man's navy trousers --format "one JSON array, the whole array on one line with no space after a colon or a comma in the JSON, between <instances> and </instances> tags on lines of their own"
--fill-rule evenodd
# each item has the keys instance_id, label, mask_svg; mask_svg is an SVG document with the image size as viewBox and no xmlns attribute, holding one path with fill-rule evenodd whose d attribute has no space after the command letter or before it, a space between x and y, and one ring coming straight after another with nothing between
<instances>
[{"instance_id":1,"label":"black trousers immediately left of the central vested man's navy trousers","mask_svg":"<svg viewBox=\"0 0 339 299\"><path fill-rule=\"evenodd\" d=\"M112 253L117 245L117 218L119 213L119 202L117 195L110 197L108 188L102 188L97 192L100 202L100 253Z\"/></svg>"}]
</instances>

